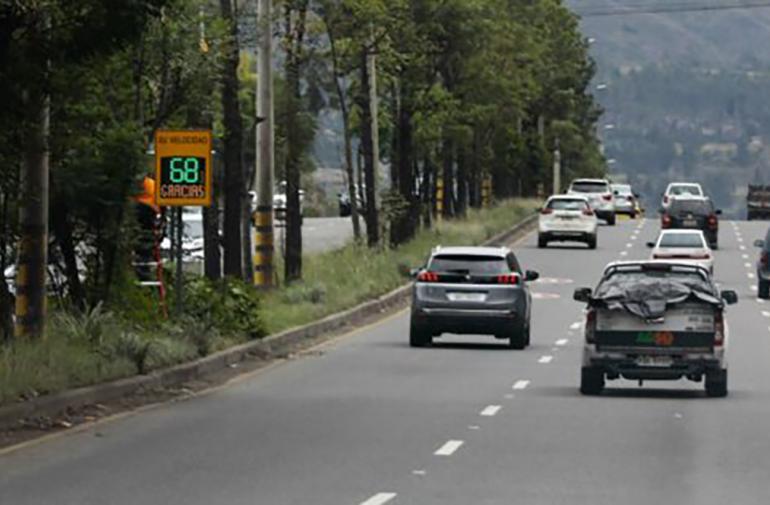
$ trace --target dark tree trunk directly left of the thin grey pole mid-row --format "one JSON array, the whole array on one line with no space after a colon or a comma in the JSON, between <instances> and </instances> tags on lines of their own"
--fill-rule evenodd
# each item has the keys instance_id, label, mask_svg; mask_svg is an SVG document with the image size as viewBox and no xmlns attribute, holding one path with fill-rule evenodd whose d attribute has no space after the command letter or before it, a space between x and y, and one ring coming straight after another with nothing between
<instances>
[{"instance_id":1,"label":"dark tree trunk directly left of the thin grey pole mid-row","mask_svg":"<svg viewBox=\"0 0 770 505\"><path fill-rule=\"evenodd\" d=\"M369 51L364 48L360 56L361 85L358 93L358 107L361 114L361 147L364 155L364 184L366 192L366 238L369 247L380 243L380 224L377 215L376 180L372 141L372 116L369 100Z\"/></svg>"}]
</instances>

